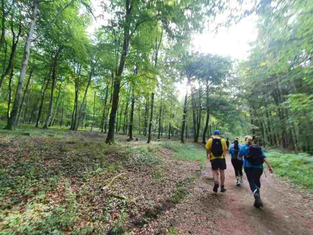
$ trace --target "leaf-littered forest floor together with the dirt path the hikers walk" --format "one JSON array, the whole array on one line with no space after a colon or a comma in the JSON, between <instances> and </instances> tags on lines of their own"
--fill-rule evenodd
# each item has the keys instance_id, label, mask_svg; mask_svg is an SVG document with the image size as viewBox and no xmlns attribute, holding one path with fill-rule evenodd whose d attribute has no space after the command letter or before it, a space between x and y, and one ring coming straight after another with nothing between
<instances>
[{"instance_id":1,"label":"leaf-littered forest floor together with the dirt path the hikers walk","mask_svg":"<svg viewBox=\"0 0 313 235\"><path fill-rule=\"evenodd\" d=\"M1 234L313 234L312 191L275 173L261 177L259 210L229 156L227 191L214 194L201 144L115 138L1 130Z\"/></svg>"}]
</instances>

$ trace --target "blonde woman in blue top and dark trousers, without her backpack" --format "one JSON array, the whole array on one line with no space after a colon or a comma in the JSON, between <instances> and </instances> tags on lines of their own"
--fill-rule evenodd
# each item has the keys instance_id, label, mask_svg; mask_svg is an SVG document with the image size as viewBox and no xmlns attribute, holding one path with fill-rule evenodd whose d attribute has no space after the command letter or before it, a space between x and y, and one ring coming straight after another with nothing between
<instances>
[{"instance_id":1,"label":"blonde woman in blue top and dark trousers, without her backpack","mask_svg":"<svg viewBox=\"0 0 313 235\"><path fill-rule=\"evenodd\" d=\"M260 198L260 187L261 187L261 182L260 178L263 173L263 162L260 164L251 164L247 157L249 156L249 146L253 144L253 138L251 136L246 136L244 138L246 140L245 145L243 145L240 148L239 154L238 154L238 159L242 159L244 157L244 172L247 175L247 179L249 181L250 189L254 194L254 206L259 208L263 206L263 202ZM258 146L258 145L257 145ZM259 146L258 146L259 147ZM251 149L251 148L250 148ZM272 173L272 167L269 164L269 161L267 160L265 154L263 151L262 152L262 158L263 161L266 162L266 164L269 167L269 171Z\"/></svg>"}]
</instances>

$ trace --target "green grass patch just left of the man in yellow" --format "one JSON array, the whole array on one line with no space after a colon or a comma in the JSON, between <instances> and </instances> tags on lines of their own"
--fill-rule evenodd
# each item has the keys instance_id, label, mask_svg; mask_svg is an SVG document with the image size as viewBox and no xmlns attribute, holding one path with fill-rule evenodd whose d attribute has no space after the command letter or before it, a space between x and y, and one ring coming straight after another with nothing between
<instances>
[{"instance_id":1,"label":"green grass patch just left of the man in yellow","mask_svg":"<svg viewBox=\"0 0 313 235\"><path fill-rule=\"evenodd\" d=\"M179 142L162 142L161 146L171 149L177 159L199 161L202 167L205 165L206 152L204 148L194 144L181 144Z\"/></svg>"}]
</instances>

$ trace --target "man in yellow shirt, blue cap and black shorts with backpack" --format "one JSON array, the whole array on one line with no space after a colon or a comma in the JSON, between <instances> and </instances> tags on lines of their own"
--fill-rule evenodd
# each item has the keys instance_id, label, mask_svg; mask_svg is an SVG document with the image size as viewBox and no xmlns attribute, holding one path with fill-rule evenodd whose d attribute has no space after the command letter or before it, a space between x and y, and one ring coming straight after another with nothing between
<instances>
[{"instance_id":1,"label":"man in yellow shirt, blue cap and black shorts with backpack","mask_svg":"<svg viewBox=\"0 0 313 235\"><path fill-rule=\"evenodd\" d=\"M227 151L227 145L225 139L221 138L221 132L219 130L214 131L214 138L210 138L205 145L207 151L207 158L210 159L214 178L213 191L217 193L218 184L218 170L221 174L221 192L225 192L225 172L226 170L226 160L225 152Z\"/></svg>"}]
</instances>

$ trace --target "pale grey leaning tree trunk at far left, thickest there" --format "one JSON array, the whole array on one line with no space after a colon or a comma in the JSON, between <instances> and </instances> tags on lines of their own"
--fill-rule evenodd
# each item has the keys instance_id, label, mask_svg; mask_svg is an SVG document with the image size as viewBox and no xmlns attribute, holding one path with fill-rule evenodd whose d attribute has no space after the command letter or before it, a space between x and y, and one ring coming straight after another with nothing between
<instances>
[{"instance_id":1,"label":"pale grey leaning tree trunk at far left, thickest there","mask_svg":"<svg viewBox=\"0 0 313 235\"><path fill-rule=\"evenodd\" d=\"M34 33L34 27L35 27L35 22L36 22L38 5L39 5L39 1L34 0L33 1L33 12L32 12L31 21L30 21L29 32L28 32L28 35L27 35L26 40L25 40L26 42L25 42L25 47L24 47L22 67L21 67L21 71L20 71L20 76L18 78L18 87L17 87L16 93L15 93L15 98L14 98L11 116L10 116L10 119L8 121L8 125L6 126L6 129L8 129L8 130L13 130L13 128L15 126L16 118L18 115L18 108L20 107L20 104L21 104L22 89L24 87L24 82L25 82L25 74L26 74L26 69L27 69L27 65L28 65L31 38L33 37L33 33Z\"/></svg>"}]
</instances>

